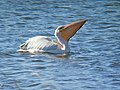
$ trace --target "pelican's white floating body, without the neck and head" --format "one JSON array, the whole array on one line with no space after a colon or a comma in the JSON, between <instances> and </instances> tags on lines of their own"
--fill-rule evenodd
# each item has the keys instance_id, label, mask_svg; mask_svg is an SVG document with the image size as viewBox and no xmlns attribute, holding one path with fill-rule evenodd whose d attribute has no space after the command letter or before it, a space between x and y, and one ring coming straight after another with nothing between
<instances>
[{"instance_id":1,"label":"pelican's white floating body, without the neck and head","mask_svg":"<svg viewBox=\"0 0 120 90\"><path fill-rule=\"evenodd\" d=\"M46 36L36 36L28 39L25 43L19 46L20 52L29 53L67 53L69 48L62 49L62 45L57 41Z\"/></svg>"}]
</instances>

